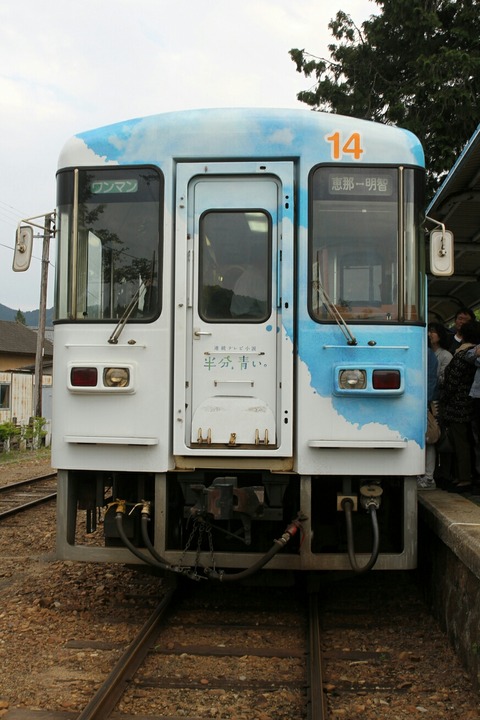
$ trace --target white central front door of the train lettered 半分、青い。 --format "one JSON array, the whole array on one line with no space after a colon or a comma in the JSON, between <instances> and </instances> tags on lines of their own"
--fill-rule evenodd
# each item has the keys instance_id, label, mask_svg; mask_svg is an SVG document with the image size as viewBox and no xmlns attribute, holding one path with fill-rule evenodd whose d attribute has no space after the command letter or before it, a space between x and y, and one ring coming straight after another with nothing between
<instances>
[{"instance_id":1,"label":"white central front door of the train lettered \u534a\u5206\u3001\u9752\u3044\u3002","mask_svg":"<svg viewBox=\"0 0 480 720\"><path fill-rule=\"evenodd\" d=\"M190 175L183 195L184 443L191 451L285 452L292 434L285 326L293 305L292 168L218 170Z\"/></svg>"}]
</instances>

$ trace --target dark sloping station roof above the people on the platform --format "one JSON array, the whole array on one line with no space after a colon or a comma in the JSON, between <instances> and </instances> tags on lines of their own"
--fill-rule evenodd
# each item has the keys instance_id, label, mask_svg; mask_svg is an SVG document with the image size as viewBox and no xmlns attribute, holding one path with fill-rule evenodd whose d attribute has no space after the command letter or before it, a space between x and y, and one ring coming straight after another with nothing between
<instances>
[{"instance_id":1,"label":"dark sloping station roof above the people on the platform","mask_svg":"<svg viewBox=\"0 0 480 720\"><path fill-rule=\"evenodd\" d=\"M480 306L480 125L430 203L427 216L454 235L454 274L428 275L429 317L449 324L460 307Z\"/></svg>"}]
</instances>

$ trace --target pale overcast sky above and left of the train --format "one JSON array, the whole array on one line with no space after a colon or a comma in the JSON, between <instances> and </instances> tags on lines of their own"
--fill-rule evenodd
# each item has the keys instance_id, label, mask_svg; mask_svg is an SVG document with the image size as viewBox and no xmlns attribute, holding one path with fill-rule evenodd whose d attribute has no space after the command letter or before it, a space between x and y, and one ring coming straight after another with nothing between
<instances>
[{"instance_id":1,"label":"pale overcast sky above and left of the train","mask_svg":"<svg viewBox=\"0 0 480 720\"><path fill-rule=\"evenodd\" d=\"M338 10L373 0L0 0L0 303L38 308L41 240L12 270L20 219L55 206L60 150L77 132L202 107L303 107L313 80L288 51L328 56ZM52 245L51 266L55 264ZM53 304L50 273L48 307Z\"/></svg>"}]
</instances>

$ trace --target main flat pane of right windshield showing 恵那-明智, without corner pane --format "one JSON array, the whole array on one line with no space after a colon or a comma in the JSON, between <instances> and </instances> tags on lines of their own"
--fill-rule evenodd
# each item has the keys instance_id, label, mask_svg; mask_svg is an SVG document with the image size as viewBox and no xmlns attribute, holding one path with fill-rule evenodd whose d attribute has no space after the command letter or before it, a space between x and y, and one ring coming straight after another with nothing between
<instances>
[{"instance_id":1,"label":"main flat pane of right windshield showing \u6075\u90a3-\u660e\u667a, without corner pane","mask_svg":"<svg viewBox=\"0 0 480 720\"><path fill-rule=\"evenodd\" d=\"M398 179L394 168L319 167L310 184L310 307L349 320L398 319Z\"/></svg>"}]
</instances>

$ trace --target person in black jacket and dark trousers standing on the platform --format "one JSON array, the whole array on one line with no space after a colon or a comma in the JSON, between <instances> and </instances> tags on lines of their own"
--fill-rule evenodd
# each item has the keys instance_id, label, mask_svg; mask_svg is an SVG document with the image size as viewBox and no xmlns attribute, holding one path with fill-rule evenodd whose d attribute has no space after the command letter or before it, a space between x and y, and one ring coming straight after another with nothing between
<instances>
[{"instance_id":1,"label":"person in black jacket and dark trousers standing on the platform","mask_svg":"<svg viewBox=\"0 0 480 720\"><path fill-rule=\"evenodd\" d=\"M470 388L475 367L465 355L480 343L480 323L471 320L458 331L462 342L445 368L445 380L440 400L440 418L448 427L456 461L456 492L466 492L472 486L472 430L473 400Z\"/></svg>"}]
</instances>

